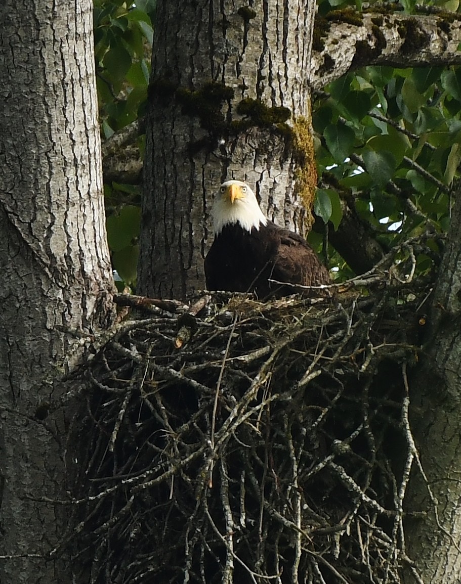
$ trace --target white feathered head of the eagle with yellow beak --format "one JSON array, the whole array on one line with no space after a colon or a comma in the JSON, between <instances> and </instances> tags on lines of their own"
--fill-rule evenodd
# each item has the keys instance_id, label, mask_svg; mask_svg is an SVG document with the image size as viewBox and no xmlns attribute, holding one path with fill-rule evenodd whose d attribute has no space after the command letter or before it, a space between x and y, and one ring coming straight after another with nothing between
<instances>
[{"instance_id":1,"label":"white feathered head of the eagle with yellow beak","mask_svg":"<svg viewBox=\"0 0 461 584\"><path fill-rule=\"evenodd\" d=\"M246 231L268 220L259 208L255 193L241 180L226 180L216 193L213 202L214 234L219 235L225 225L240 223Z\"/></svg>"}]
</instances>

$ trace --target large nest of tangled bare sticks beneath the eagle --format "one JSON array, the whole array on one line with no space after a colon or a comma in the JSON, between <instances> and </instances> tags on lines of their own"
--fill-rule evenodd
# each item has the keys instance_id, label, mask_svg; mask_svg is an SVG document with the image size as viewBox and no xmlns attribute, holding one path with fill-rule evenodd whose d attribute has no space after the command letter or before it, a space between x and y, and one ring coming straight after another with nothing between
<instances>
[{"instance_id":1,"label":"large nest of tangled bare sticks beneath the eagle","mask_svg":"<svg viewBox=\"0 0 461 584\"><path fill-rule=\"evenodd\" d=\"M320 301L131 312L80 372L70 429L89 581L400 582L427 297L383 273Z\"/></svg>"}]
</instances>

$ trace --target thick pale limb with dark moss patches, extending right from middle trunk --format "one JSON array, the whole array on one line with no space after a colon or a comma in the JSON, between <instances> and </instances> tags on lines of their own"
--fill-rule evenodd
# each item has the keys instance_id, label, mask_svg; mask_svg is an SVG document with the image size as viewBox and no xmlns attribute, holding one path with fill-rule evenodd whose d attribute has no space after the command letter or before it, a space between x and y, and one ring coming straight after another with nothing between
<instances>
[{"instance_id":1,"label":"thick pale limb with dark moss patches, extending right from middle trunk","mask_svg":"<svg viewBox=\"0 0 461 584\"><path fill-rule=\"evenodd\" d=\"M310 83L319 89L364 65L459 65L460 21L456 13L330 12L316 20Z\"/></svg>"}]
</instances>

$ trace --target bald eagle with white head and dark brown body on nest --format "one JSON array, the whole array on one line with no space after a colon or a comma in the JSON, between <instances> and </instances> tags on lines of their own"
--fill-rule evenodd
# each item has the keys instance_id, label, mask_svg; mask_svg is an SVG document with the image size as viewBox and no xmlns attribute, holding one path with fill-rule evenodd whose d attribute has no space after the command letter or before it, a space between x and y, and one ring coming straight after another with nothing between
<instances>
[{"instance_id":1,"label":"bald eagle with white head and dark brown body on nest","mask_svg":"<svg viewBox=\"0 0 461 584\"><path fill-rule=\"evenodd\" d=\"M328 270L304 238L264 216L254 192L241 180L227 180L213 203L214 241L205 258L208 290L255 292L261 300L331 284ZM277 284L276 280L284 284Z\"/></svg>"}]
</instances>

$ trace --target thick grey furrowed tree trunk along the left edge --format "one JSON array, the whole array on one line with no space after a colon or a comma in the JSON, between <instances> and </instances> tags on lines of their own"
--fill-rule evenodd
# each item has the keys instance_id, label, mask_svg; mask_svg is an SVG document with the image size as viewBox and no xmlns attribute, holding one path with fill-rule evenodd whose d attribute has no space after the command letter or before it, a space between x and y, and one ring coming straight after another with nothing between
<instances>
[{"instance_id":1,"label":"thick grey furrowed tree trunk along the left edge","mask_svg":"<svg viewBox=\"0 0 461 584\"><path fill-rule=\"evenodd\" d=\"M2 582L70 582L63 376L112 318L92 2L0 6ZM72 463L73 464L73 463Z\"/></svg>"}]
</instances>

